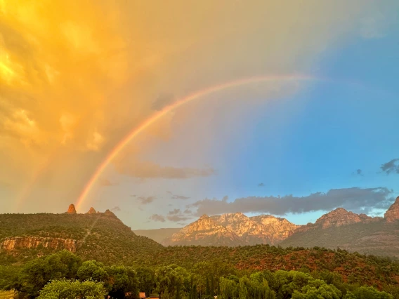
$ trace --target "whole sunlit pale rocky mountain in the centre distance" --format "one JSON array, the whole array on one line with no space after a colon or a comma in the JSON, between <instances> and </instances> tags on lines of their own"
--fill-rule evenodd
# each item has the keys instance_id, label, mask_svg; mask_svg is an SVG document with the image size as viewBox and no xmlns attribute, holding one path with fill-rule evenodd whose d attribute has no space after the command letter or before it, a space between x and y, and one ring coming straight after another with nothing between
<instances>
[{"instance_id":1,"label":"whole sunlit pale rocky mountain in the centre distance","mask_svg":"<svg viewBox=\"0 0 399 299\"><path fill-rule=\"evenodd\" d=\"M164 245L239 246L278 244L293 234L297 225L272 215L247 217L242 213L202 215L162 241Z\"/></svg>"}]
</instances>

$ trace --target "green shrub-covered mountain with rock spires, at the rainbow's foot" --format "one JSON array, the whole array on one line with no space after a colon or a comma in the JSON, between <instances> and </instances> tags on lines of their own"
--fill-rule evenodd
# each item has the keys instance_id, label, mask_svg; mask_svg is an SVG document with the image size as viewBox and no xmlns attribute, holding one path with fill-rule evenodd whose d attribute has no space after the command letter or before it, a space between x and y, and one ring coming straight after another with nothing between
<instances>
[{"instance_id":1,"label":"green shrub-covered mountain with rock spires, at the rainbow's foot","mask_svg":"<svg viewBox=\"0 0 399 299\"><path fill-rule=\"evenodd\" d=\"M162 245L140 237L111 211L63 214L1 214L0 263L13 258L25 260L67 249L84 258L112 263L121 258L134 260L157 251Z\"/></svg>"}]
</instances>

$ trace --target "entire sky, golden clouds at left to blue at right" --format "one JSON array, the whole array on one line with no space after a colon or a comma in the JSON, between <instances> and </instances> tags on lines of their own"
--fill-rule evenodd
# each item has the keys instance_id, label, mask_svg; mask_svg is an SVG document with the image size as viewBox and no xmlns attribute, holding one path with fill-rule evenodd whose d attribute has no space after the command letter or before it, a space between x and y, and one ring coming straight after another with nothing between
<instances>
[{"instance_id":1,"label":"entire sky, golden clouds at left to blue at right","mask_svg":"<svg viewBox=\"0 0 399 299\"><path fill-rule=\"evenodd\" d=\"M0 0L0 213L384 215L398 1Z\"/></svg>"}]
</instances>

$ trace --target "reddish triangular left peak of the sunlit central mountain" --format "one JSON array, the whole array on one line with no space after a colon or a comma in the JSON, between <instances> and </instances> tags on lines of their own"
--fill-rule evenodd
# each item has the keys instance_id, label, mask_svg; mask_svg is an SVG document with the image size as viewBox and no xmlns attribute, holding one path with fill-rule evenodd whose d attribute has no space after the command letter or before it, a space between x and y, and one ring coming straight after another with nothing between
<instances>
[{"instance_id":1,"label":"reddish triangular left peak of the sunlit central mountain","mask_svg":"<svg viewBox=\"0 0 399 299\"><path fill-rule=\"evenodd\" d=\"M238 246L244 245L240 237L218 224L208 215L202 215L164 240L164 245Z\"/></svg>"}]
</instances>

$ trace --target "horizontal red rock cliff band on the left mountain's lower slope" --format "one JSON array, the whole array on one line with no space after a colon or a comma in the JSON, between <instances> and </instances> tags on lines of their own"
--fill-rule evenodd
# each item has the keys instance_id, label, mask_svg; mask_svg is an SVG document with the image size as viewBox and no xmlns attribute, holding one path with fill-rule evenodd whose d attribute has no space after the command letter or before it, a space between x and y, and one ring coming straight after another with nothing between
<instances>
[{"instance_id":1,"label":"horizontal red rock cliff band on the left mountain's lower slope","mask_svg":"<svg viewBox=\"0 0 399 299\"><path fill-rule=\"evenodd\" d=\"M13 251L19 248L48 248L53 250L67 249L75 252L77 241L74 239L46 238L46 237L8 237L1 241L1 248Z\"/></svg>"}]
</instances>

